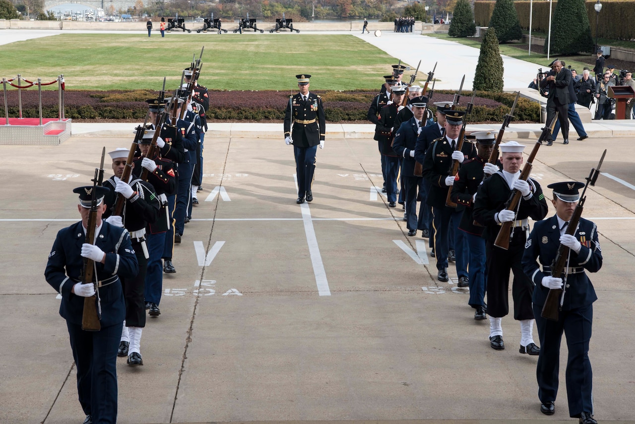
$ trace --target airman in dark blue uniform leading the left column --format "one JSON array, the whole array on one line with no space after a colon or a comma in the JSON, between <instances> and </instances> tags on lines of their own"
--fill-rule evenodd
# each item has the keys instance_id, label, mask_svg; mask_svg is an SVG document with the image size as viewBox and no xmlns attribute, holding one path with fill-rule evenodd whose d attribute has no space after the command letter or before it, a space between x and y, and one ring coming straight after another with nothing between
<instances>
[{"instance_id":1,"label":"airman in dark blue uniform leading the left column","mask_svg":"<svg viewBox=\"0 0 635 424\"><path fill-rule=\"evenodd\" d=\"M77 367L77 394L86 420L84 424L117 422L117 345L126 315L119 277L134 277L138 263L130 234L102 221L104 196L110 190L97 187L95 244L86 243L93 186L77 187L77 209L81 221L60 230L48 255L46 282L62 296L60 315L66 320L70 348ZM95 281L81 284L84 258L95 261ZM84 298L97 294L101 309L99 331L81 328Z\"/></svg>"}]
</instances>

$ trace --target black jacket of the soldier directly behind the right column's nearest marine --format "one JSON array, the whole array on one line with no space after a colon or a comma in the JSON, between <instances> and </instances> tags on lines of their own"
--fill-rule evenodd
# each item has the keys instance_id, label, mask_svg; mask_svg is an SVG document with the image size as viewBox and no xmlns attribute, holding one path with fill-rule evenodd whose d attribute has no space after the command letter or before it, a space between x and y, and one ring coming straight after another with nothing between
<instances>
[{"instance_id":1,"label":"black jacket of the soldier directly behind the right column's nearest marine","mask_svg":"<svg viewBox=\"0 0 635 424\"><path fill-rule=\"evenodd\" d=\"M450 176L452 153L454 151L450 142L448 142L448 138L443 137L434 140L427 152L425 152L424 161L422 162L424 166L423 174L424 178L431 184L431 189L427 195L427 204L432 206L432 208L445 207L448 190L450 190L450 187L445 185L445 179ZM476 154L476 149L474 149L473 143L464 140L461 152L467 159ZM457 211L462 209L462 204L457 204Z\"/></svg>"}]
</instances>

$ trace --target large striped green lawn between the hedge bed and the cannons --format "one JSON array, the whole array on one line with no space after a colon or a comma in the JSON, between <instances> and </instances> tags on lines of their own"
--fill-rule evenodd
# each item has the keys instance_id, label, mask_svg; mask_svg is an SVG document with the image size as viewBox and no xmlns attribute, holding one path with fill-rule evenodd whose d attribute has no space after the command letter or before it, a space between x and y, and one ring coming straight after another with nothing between
<instances>
[{"instance_id":1,"label":"large striped green lawn between the hedge bed and the cannons","mask_svg":"<svg viewBox=\"0 0 635 424\"><path fill-rule=\"evenodd\" d=\"M167 77L171 90L203 46L199 81L209 89L297 91L303 73L313 89L378 89L398 61L349 35L60 34L0 46L0 76L49 82L64 74L68 89L104 90L159 90Z\"/></svg>"}]
</instances>

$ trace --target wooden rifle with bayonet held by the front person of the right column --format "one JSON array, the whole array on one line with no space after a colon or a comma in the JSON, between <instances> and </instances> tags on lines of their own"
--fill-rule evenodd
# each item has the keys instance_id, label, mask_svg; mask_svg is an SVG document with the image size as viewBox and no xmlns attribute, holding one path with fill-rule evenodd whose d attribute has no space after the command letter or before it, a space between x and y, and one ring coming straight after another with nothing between
<instances>
[{"instance_id":1,"label":"wooden rifle with bayonet held by the front person of the right column","mask_svg":"<svg viewBox=\"0 0 635 424\"><path fill-rule=\"evenodd\" d=\"M584 185L584 190L582 190L580 200L575 206L573 215L569 220L569 226L566 229L566 234L575 235L575 232L578 229L578 223L580 223L580 217L582 216L582 211L584 210L584 202L587 199L587 197L585 196L587 187L589 187L589 185L595 186L600 172L599 168L602 166L602 162L604 162L605 155L606 149L604 150L604 153L599 160L598 168L592 168L591 173L586 178L587 183ZM564 244L560 244L560 246L558 246L558 253L556 254L556 258L554 258L553 262L551 263L551 276L556 278L562 276L563 278L563 288L549 289L547 299L545 300L545 304L542 307L542 312L540 312L541 317L550 319L551 321L558 321L558 312L562 309L563 302L565 301L566 273L564 271L569 262L570 250L571 249L566 247Z\"/></svg>"}]
</instances>

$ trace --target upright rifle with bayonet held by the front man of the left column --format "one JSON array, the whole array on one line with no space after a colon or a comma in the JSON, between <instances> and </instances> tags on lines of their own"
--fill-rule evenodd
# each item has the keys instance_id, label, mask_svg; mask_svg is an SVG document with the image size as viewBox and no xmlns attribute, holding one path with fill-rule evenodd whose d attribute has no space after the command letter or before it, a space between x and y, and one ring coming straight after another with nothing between
<instances>
[{"instance_id":1,"label":"upright rifle with bayonet held by the front man of the left column","mask_svg":"<svg viewBox=\"0 0 635 424\"><path fill-rule=\"evenodd\" d=\"M88 227L86 228L86 243L95 244L95 229L97 228L97 210L99 208L97 201L97 187L102 185L104 180L104 157L106 154L106 148L102 149L102 161L100 168L95 168L95 178L93 178L93 197L90 202L90 212L88 213ZM84 269L82 271L81 283L93 284L97 289L97 282L94 282L95 277L95 261L89 258L84 258ZM81 329L84 331L99 331L102 329L100 320L100 310L98 308L97 295L84 298L84 310L81 317Z\"/></svg>"}]
</instances>

